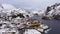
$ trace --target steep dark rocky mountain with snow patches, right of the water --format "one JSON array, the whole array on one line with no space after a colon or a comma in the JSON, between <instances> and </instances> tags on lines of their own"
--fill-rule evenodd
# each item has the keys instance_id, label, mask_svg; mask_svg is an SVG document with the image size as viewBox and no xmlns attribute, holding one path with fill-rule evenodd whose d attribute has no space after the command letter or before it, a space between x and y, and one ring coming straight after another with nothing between
<instances>
[{"instance_id":1,"label":"steep dark rocky mountain with snow patches, right of the water","mask_svg":"<svg viewBox=\"0 0 60 34\"><path fill-rule=\"evenodd\" d=\"M60 3L51 5L45 12L44 18L48 19L60 19Z\"/></svg>"}]
</instances>

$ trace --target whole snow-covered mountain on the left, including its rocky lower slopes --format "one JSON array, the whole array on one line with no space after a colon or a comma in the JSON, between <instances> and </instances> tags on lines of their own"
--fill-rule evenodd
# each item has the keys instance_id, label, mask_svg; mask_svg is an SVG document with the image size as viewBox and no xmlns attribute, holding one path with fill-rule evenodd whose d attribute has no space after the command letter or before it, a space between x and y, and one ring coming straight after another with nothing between
<instances>
[{"instance_id":1,"label":"whole snow-covered mountain on the left, including its rocky lower slopes","mask_svg":"<svg viewBox=\"0 0 60 34\"><path fill-rule=\"evenodd\" d=\"M26 10L21 9L21 8L15 8L13 5L11 4L1 4L0 5L0 14L2 14L5 17L6 16L12 16L15 15L17 16L18 14L23 14L24 16L26 16L28 14L28 12L26 12Z\"/></svg>"}]
</instances>

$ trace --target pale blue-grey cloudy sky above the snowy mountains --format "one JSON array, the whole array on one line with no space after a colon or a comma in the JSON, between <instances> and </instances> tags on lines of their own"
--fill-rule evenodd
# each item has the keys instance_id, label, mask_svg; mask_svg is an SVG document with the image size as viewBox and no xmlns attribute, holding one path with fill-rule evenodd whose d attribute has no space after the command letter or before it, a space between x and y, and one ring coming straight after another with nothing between
<instances>
[{"instance_id":1,"label":"pale blue-grey cloudy sky above the snowy mountains","mask_svg":"<svg viewBox=\"0 0 60 34\"><path fill-rule=\"evenodd\" d=\"M0 0L0 4L12 4L17 8L44 10L47 6L59 3L60 0Z\"/></svg>"}]
</instances>

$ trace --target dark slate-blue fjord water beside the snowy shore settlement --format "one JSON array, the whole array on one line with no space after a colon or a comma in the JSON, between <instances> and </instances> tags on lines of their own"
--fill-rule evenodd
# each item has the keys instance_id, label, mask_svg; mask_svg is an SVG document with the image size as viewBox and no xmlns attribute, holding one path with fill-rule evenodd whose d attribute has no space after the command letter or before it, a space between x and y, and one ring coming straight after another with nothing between
<instances>
[{"instance_id":1,"label":"dark slate-blue fjord water beside the snowy shore settlement","mask_svg":"<svg viewBox=\"0 0 60 34\"><path fill-rule=\"evenodd\" d=\"M60 20L43 20L40 16L34 16L33 19L38 19L48 25L51 30L47 34L60 34Z\"/></svg>"}]
</instances>

